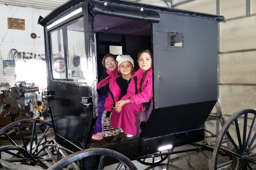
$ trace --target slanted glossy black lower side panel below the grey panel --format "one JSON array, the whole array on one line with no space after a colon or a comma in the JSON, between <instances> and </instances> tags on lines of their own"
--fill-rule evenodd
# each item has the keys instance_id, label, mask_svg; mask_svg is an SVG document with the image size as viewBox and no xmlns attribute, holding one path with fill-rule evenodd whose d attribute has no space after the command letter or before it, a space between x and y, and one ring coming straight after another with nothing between
<instances>
[{"instance_id":1,"label":"slanted glossy black lower side panel below the grey panel","mask_svg":"<svg viewBox=\"0 0 256 170\"><path fill-rule=\"evenodd\" d=\"M207 101L155 109L146 122L141 136L152 139L204 129L204 122L215 103L216 101ZM198 141L204 139L204 132L201 135L202 138L198 138Z\"/></svg>"}]
</instances>

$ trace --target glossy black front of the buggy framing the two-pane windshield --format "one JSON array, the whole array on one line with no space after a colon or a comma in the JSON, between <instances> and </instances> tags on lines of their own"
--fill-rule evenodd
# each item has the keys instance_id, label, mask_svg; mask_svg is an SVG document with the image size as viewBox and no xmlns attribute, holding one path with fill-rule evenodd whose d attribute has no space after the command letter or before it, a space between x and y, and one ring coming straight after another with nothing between
<instances>
[{"instance_id":1,"label":"glossy black front of the buggy framing the two-pane windshield","mask_svg":"<svg viewBox=\"0 0 256 170\"><path fill-rule=\"evenodd\" d=\"M83 3L82 3L83 2ZM92 14L90 14L88 12L88 3L84 3L84 1L82 1L80 3L80 5L76 5L76 6L72 6L72 4L70 4L70 9L72 10L67 10L66 13L61 13L59 14L56 19L54 20L50 20L48 23L46 23L46 26L44 26L44 34L45 34L45 52L46 52L46 63L47 63L47 67L48 67L48 75L47 75L47 82L48 82L48 92L51 96L54 96L54 88L56 89L56 85L55 84L66 84L64 85L64 89L68 89L68 88L73 88L76 89L78 91L80 91L81 89L88 89L88 93L84 94L85 97L90 98L88 101L90 102L89 106L88 103L87 104L82 104L80 102L80 98L79 98L79 102L76 101L76 106L79 105L81 114L83 114L82 112L85 113L86 117L88 117L88 121L87 123L84 122L84 128L85 128L85 133L82 134L80 136L80 138L83 138L82 140L80 139L80 142L75 142L76 139L70 141L69 138L66 138L65 135L60 135L58 133L58 127L56 127L56 120L54 119L53 114L56 114L56 110L55 112L52 111L52 109L50 109L50 114L52 117L52 123L53 123L53 127L54 127L54 132L56 134L56 139L61 140L64 145L66 144L68 146L68 148L72 147L72 145L75 145L77 149L81 150L81 149L85 149L89 147L89 143L92 137L92 132L93 132L93 128L96 122L96 119L98 117L98 110L97 110L97 97L96 96L96 80L97 80L97 62L96 62L96 57L95 57L95 46L94 46L94 32L93 32L93 17ZM68 4L70 2L67 2L66 4ZM63 4L64 6L64 4ZM61 6L59 7L61 8ZM73 10L73 8L76 8L76 10ZM47 18L47 16L45 17ZM86 66L90 67L92 70L92 74L88 74L88 76L90 76L90 80L79 80L79 79L70 79L68 74L70 74L70 70L68 69L68 49L67 49L67 29L66 26L70 25L74 22L76 22L77 20L83 18L83 26L84 26L84 45L85 45L85 55L87 56L87 63ZM45 24L40 22L39 18L39 23ZM44 21L47 22L47 21ZM53 76L53 61L52 61L52 49L51 49L51 35L50 32L53 32L55 30L58 30L60 28L64 28L64 32L63 32L63 44L64 44L64 58L65 58L65 69L66 69L66 78L62 78L62 79L56 79ZM94 88L95 87L95 88ZM82 92L82 91L81 91ZM79 93L79 92L78 92ZM49 95L48 94L48 95ZM55 95L56 96L59 94ZM59 99L63 97L60 96ZM71 96L72 97L72 94ZM53 99L54 100L54 99ZM57 99L58 100L58 99ZM49 106L51 106L51 100L49 101ZM79 104L78 104L79 103ZM68 104L68 103L67 103ZM72 104L72 103L70 103ZM74 104L74 103L73 103ZM84 108L84 109L83 109ZM57 125L59 126L59 124ZM67 131L72 131L70 129L68 129L69 127L65 127L67 128ZM72 145L70 145L72 144ZM76 150L77 150L76 149Z\"/></svg>"}]
</instances>

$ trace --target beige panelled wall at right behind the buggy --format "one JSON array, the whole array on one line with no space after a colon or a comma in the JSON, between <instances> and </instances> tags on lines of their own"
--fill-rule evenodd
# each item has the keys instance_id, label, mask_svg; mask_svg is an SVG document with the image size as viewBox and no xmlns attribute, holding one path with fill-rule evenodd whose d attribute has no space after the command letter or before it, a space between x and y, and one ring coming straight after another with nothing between
<instances>
[{"instance_id":1,"label":"beige panelled wall at right behind the buggy","mask_svg":"<svg viewBox=\"0 0 256 170\"><path fill-rule=\"evenodd\" d=\"M216 2L195 0L177 8L216 14ZM219 24L218 79L220 105L226 120L239 110L256 109L256 1L250 2L251 15L246 16L246 0L220 0L220 15L225 17L226 23ZM239 119L239 122L244 121ZM215 133L216 121L206 122L206 129ZM229 132L236 136L235 131Z\"/></svg>"}]
</instances>

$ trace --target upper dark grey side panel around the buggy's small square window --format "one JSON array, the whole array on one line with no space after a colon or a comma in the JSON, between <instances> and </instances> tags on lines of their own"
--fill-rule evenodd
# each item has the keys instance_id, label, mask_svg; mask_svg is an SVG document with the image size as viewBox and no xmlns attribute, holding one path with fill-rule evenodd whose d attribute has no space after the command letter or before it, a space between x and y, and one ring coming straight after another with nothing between
<instances>
[{"instance_id":1,"label":"upper dark grey side panel around the buggy's small square window","mask_svg":"<svg viewBox=\"0 0 256 170\"><path fill-rule=\"evenodd\" d=\"M167 32L184 47L167 46ZM217 100L217 21L161 14L153 23L155 108Z\"/></svg>"}]
</instances>

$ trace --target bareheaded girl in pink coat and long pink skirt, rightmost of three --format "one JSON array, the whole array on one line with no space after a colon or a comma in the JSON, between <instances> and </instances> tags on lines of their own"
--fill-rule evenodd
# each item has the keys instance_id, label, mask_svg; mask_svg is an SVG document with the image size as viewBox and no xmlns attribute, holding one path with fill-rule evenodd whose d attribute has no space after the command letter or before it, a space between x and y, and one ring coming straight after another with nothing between
<instances>
[{"instance_id":1,"label":"bareheaded girl in pink coat and long pink skirt, rightmost of three","mask_svg":"<svg viewBox=\"0 0 256 170\"><path fill-rule=\"evenodd\" d=\"M126 133L123 140L136 135L135 114L146 111L153 97L152 54L148 49L142 49L137 55L140 69L132 76L127 94L116 102L111 123L113 127L121 128Z\"/></svg>"}]
</instances>

